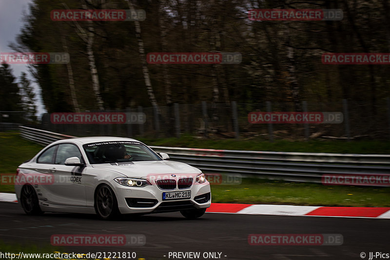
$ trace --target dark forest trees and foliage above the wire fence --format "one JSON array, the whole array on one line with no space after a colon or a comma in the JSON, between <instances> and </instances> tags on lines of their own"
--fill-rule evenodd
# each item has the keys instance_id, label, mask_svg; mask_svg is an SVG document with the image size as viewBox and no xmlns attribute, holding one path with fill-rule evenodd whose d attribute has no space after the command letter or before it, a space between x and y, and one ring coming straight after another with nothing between
<instances>
[{"instance_id":1,"label":"dark forest trees and foliage above the wire fence","mask_svg":"<svg viewBox=\"0 0 390 260\"><path fill-rule=\"evenodd\" d=\"M129 9L125 0L86 1L88 9ZM245 103L339 101L374 103L389 95L386 66L324 65L325 52L386 52L388 5L383 1L141 1L145 53L239 52L238 65L148 64L156 100ZM161 4L164 5L161 5ZM64 6L66 4L66 7ZM15 49L70 54L75 93L81 110L97 109L87 42L93 33L93 57L106 109L151 106L145 87L133 21L53 21L53 9L82 9L79 0L34 0ZM342 9L340 21L251 21L252 8ZM81 29L81 30L80 30ZM292 58L289 57L292 54ZM33 65L49 113L74 111L69 68ZM170 91L169 91L170 90ZM214 95L214 94L215 95ZM299 106L299 105L298 105Z\"/></svg>"}]
</instances>

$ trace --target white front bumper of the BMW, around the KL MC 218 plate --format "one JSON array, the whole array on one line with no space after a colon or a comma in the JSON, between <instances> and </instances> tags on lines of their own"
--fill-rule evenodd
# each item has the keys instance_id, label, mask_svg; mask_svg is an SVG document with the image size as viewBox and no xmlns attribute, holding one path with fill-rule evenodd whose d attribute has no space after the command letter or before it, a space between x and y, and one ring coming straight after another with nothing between
<instances>
[{"instance_id":1,"label":"white front bumper of the BMW, around the KL MC 218 plate","mask_svg":"<svg viewBox=\"0 0 390 260\"><path fill-rule=\"evenodd\" d=\"M211 205L210 183L196 183L188 189L161 190L156 185L145 187L126 187L113 183L117 195L118 208L122 214L163 213L185 209L208 208ZM163 200L163 192L191 191L191 198Z\"/></svg>"}]
</instances>

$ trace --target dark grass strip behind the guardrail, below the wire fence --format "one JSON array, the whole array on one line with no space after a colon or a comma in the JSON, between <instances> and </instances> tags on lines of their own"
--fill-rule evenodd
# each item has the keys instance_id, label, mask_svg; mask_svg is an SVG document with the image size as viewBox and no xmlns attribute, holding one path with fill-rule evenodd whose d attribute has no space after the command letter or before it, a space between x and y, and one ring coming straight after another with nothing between
<instances>
[{"instance_id":1,"label":"dark grass strip behind the guardrail, below the wire fence","mask_svg":"<svg viewBox=\"0 0 390 260\"><path fill-rule=\"evenodd\" d=\"M275 151L275 152L307 152L307 153L345 153L345 154L390 154L390 141L343 141L343 140L311 140L287 141L276 140L234 140L234 139L198 139L193 136L181 138L138 138L147 145L190 147L223 150Z\"/></svg>"}]
</instances>

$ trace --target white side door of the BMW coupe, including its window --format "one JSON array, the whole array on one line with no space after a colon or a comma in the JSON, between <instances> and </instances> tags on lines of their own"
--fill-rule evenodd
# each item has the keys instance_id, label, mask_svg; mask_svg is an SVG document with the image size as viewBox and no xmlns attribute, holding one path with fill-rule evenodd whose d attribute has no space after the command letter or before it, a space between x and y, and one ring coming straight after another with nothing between
<instances>
[{"instance_id":1,"label":"white side door of the BMW coupe, including its window","mask_svg":"<svg viewBox=\"0 0 390 260\"><path fill-rule=\"evenodd\" d=\"M53 168L50 171L55 176L55 185L51 194L56 196L56 202L60 205L85 206L85 185L82 180L85 167L65 165L65 160L70 157L78 157L84 162L78 146L73 143L61 143L56 150Z\"/></svg>"}]
</instances>

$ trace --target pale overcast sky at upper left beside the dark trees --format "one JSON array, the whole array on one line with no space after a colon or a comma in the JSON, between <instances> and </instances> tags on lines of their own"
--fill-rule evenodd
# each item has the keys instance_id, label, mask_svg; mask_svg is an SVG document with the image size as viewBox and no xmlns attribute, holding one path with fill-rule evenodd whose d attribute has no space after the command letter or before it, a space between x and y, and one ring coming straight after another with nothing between
<instances>
[{"instance_id":1,"label":"pale overcast sky at upper left beside the dark trees","mask_svg":"<svg viewBox=\"0 0 390 260\"><path fill-rule=\"evenodd\" d=\"M20 28L23 24L22 13L25 11L28 13L28 3L32 0L0 0L0 52L13 52L8 48L10 42L15 42L16 36L20 32ZM25 72L29 75L29 79L32 81L32 85L37 93L36 98L38 100L38 114L46 112L43 108L42 101L40 99L40 92L38 85L33 82L33 78L28 73L27 67L22 64L10 64L14 77L18 78L21 72Z\"/></svg>"}]
</instances>

